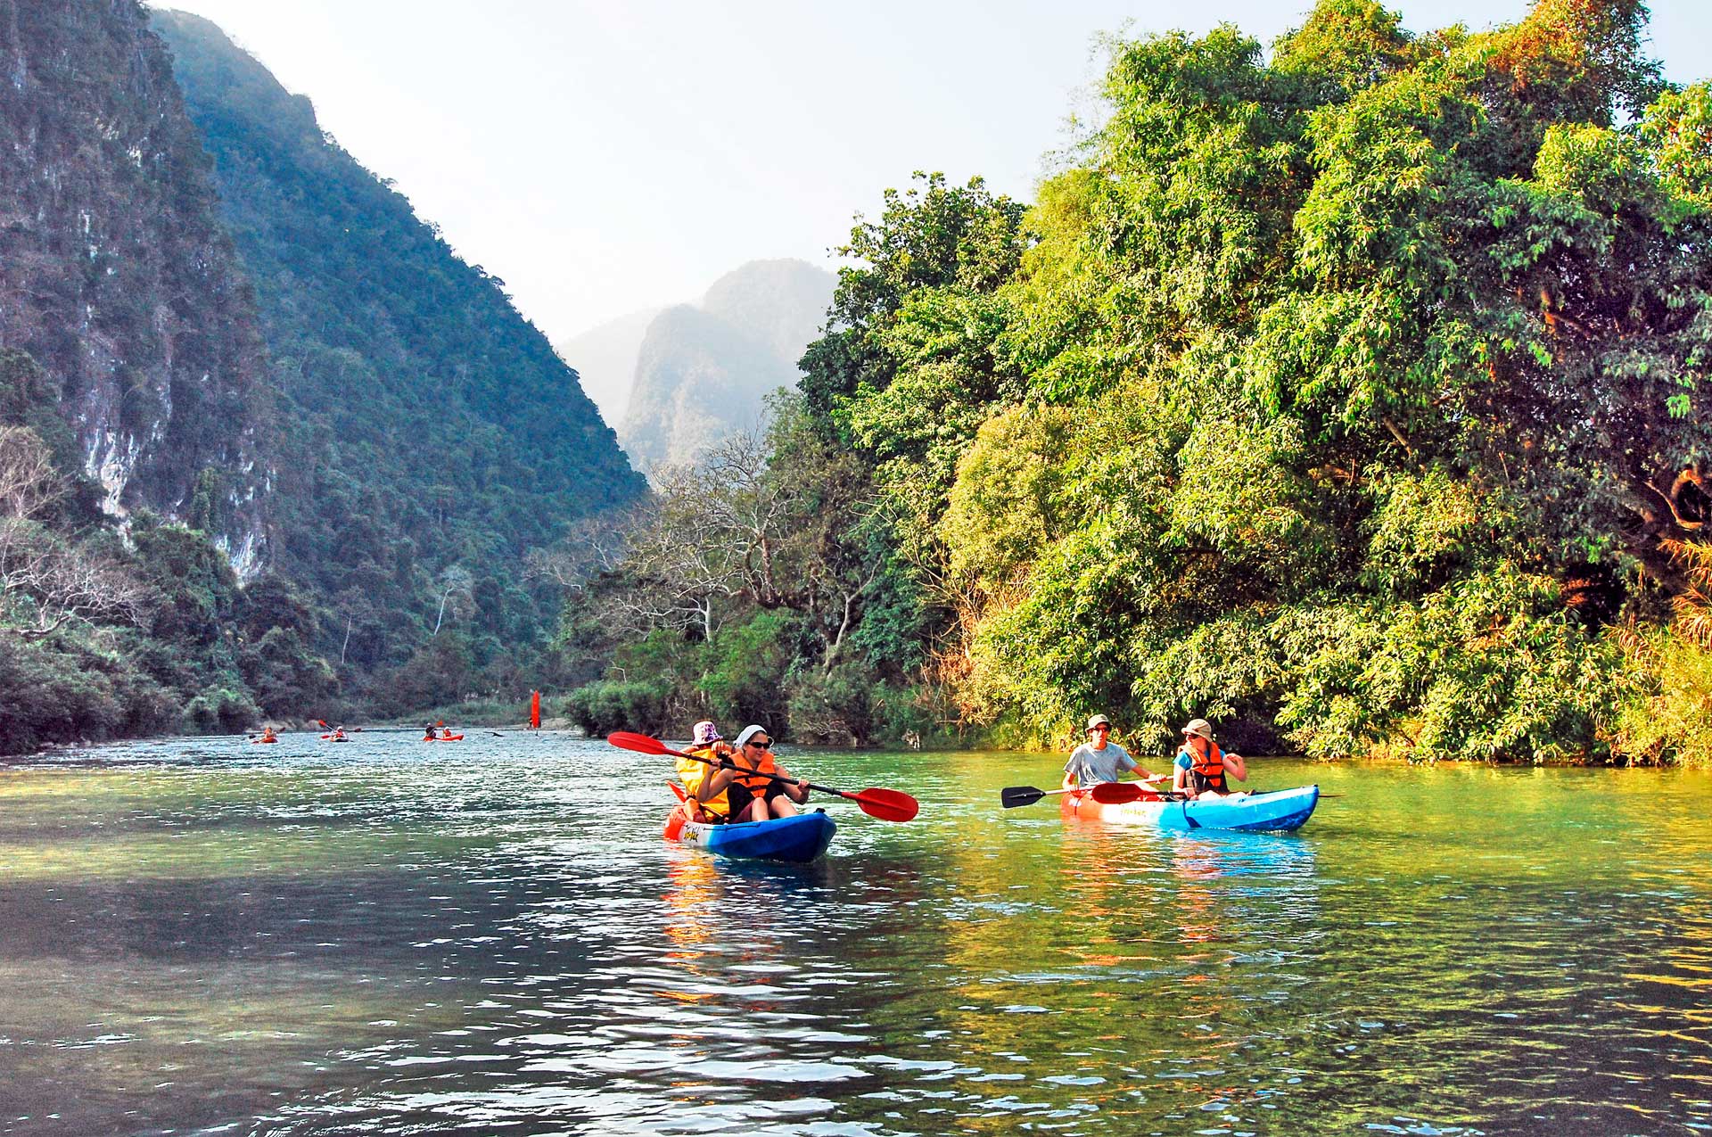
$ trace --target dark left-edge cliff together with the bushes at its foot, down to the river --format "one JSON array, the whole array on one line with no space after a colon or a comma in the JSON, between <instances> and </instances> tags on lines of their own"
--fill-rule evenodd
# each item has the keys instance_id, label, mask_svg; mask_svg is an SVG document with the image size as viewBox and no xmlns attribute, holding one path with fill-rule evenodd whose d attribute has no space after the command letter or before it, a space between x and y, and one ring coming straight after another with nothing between
<instances>
[{"instance_id":1,"label":"dark left-edge cliff together with the bushes at its foot, down to the river","mask_svg":"<svg viewBox=\"0 0 1712 1137\"><path fill-rule=\"evenodd\" d=\"M14 3L0 58L0 753L329 699L264 575L265 354L166 50L135 3Z\"/></svg>"}]
</instances>

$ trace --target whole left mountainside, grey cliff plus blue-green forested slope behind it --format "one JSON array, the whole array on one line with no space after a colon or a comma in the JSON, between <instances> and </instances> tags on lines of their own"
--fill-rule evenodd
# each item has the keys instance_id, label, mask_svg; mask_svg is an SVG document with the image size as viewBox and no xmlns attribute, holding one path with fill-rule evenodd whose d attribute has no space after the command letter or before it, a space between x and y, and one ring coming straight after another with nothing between
<instances>
[{"instance_id":1,"label":"whole left mountainside, grey cliff plus blue-green forested slope behind it","mask_svg":"<svg viewBox=\"0 0 1712 1137\"><path fill-rule=\"evenodd\" d=\"M0 752L551 682L526 557L642 478L502 281L154 19L0 19Z\"/></svg>"}]
</instances>

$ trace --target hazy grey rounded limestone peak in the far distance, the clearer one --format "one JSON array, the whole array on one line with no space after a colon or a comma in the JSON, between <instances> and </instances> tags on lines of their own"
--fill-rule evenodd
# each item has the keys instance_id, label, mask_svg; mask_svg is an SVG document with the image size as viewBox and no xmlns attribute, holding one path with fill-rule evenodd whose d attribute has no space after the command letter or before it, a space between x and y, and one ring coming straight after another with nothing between
<instances>
[{"instance_id":1,"label":"hazy grey rounded limestone peak in the far distance, the clearer one","mask_svg":"<svg viewBox=\"0 0 1712 1137\"><path fill-rule=\"evenodd\" d=\"M753 260L719 277L700 305L654 317L620 430L630 457L644 467L692 461L758 426L765 397L796 384L835 284L805 260Z\"/></svg>"}]
</instances>

